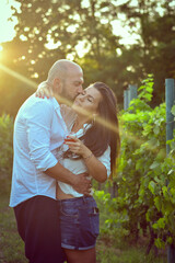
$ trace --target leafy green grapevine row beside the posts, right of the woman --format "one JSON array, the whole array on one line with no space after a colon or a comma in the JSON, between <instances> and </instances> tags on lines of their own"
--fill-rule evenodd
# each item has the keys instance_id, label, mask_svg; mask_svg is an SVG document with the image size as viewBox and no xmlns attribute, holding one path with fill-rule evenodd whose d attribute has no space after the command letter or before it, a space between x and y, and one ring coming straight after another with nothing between
<instances>
[{"instance_id":1,"label":"leafy green grapevine row beside the posts, right of the woman","mask_svg":"<svg viewBox=\"0 0 175 263\"><path fill-rule=\"evenodd\" d=\"M126 112L120 114L121 155L117 196L96 193L108 209L107 229L122 229L136 241L139 233L154 237L158 248L175 243L175 139L166 157L165 103L151 108L153 79L149 76ZM172 110L174 114L174 107Z\"/></svg>"}]
</instances>

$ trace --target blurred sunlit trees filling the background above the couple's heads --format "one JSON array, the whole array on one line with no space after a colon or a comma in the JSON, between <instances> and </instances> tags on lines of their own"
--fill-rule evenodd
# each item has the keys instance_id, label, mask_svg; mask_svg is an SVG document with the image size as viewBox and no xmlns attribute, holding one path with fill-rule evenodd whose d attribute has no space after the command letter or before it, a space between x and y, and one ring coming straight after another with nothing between
<instances>
[{"instance_id":1,"label":"blurred sunlit trees filling the background above the couple's heads","mask_svg":"<svg viewBox=\"0 0 175 263\"><path fill-rule=\"evenodd\" d=\"M175 77L174 0L8 2L15 34L1 44L1 66L39 83L57 59L74 60L84 70L84 87L106 82L120 107L128 83L140 85L153 73L152 106L164 100L164 79ZM15 116L34 90L2 67L0 80L0 112Z\"/></svg>"}]
</instances>

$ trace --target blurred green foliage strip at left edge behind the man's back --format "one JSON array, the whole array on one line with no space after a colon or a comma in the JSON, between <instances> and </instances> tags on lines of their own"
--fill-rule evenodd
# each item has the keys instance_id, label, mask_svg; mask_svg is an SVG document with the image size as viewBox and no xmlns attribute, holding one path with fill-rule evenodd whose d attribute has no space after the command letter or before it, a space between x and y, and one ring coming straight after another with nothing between
<instances>
[{"instance_id":1,"label":"blurred green foliage strip at left edge behind the man's back","mask_svg":"<svg viewBox=\"0 0 175 263\"><path fill-rule=\"evenodd\" d=\"M9 115L0 117L0 193L9 191L12 171L13 121Z\"/></svg>"}]
</instances>

